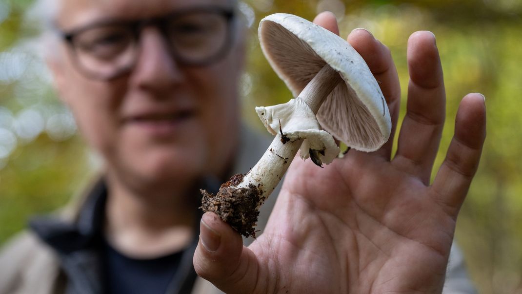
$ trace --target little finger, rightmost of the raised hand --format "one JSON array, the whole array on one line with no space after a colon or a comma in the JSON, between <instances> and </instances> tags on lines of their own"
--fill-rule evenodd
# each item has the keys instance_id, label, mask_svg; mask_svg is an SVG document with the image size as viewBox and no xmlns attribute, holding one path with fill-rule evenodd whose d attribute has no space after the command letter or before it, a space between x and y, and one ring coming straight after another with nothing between
<instances>
[{"instance_id":1,"label":"little finger, rightmost of the raised hand","mask_svg":"<svg viewBox=\"0 0 522 294\"><path fill-rule=\"evenodd\" d=\"M464 202L479 166L485 136L484 97L478 93L468 94L460 102L452 143L431 186L438 202L456 208L455 213Z\"/></svg>"}]
</instances>

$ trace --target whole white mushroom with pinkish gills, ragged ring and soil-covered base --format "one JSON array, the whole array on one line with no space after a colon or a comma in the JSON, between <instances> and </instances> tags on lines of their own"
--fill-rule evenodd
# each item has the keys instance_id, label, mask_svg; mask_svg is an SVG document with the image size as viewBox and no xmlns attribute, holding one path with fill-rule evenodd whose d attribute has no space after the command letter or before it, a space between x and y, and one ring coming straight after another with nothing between
<instances>
[{"instance_id":1,"label":"whole white mushroom with pinkish gills, ragged ring and soil-covered base","mask_svg":"<svg viewBox=\"0 0 522 294\"><path fill-rule=\"evenodd\" d=\"M274 191L300 149L322 167L348 147L374 151L387 140L391 120L383 93L363 58L342 38L301 17L273 14L259 24L263 53L296 98L256 112L275 136L246 173L203 193L213 211L245 237L255 237L258 208ZM323 130L324 129L324 130Z\"/></svg>"}]
</instances>

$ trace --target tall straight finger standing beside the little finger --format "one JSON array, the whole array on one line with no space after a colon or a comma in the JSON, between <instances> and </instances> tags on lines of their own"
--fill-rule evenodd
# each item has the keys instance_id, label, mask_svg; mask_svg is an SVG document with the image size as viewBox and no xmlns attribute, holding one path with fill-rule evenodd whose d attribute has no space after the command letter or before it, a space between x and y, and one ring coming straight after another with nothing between
<instances>
[{"instance_id":1,"label":"tall straight finger standing beside the little finger","mask_svg":"<svg viewBox=\"0 0 522 294\"><path fill-rule=\"evenodd\" d=\"M408 40L408 103L394 164L429 184L441 141L446 92L435 36L415 32Z\"/></svg>"}]
</instances>

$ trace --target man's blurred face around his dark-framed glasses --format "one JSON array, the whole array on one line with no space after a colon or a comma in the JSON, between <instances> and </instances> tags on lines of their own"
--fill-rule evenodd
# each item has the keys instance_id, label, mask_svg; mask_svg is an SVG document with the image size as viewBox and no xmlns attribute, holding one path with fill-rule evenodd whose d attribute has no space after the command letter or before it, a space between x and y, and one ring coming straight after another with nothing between
<instances>
[{"instance_id":1,"label":"man's blurred face around his dark-framed glasses","mask_svg":"<svg viewBox=\"0 0 522 294\"><path fill-rule=\"evenodd\" d=\"M111 19L161 17L193 6L232 8L228 0L61 0L58 26L67 32ZM236 20L232 20L236 21ZM63 42L52 63L60 96L108 172L127 184L191 183L219 174L233 159L238 136L238 76L243 48L205 66L183 65L162 33L145 26L133 69L112 80L88 77ZM240 38L241 39L241 38Z\"/></svg>"}]
</instances>

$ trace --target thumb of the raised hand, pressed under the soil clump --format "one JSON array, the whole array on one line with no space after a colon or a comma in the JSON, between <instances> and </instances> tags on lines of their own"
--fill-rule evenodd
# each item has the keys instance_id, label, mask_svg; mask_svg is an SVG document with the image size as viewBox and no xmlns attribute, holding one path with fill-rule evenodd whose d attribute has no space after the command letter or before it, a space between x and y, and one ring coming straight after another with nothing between
<instances>
[{"instance_id":1,"label":"thumb of the raised hand, pressed under the soil clump","mask_svg":"<svg viewBox=\"0 0 522 294\"><path fill-rule=\"evenodd\" d=\"M252 293L257 265L255 255L243 246L238 232L216 214L203 215L194 253L194 268L200 277L226 293Z\"/></svg>"}]
</instances>

